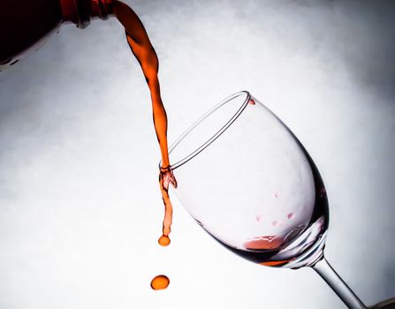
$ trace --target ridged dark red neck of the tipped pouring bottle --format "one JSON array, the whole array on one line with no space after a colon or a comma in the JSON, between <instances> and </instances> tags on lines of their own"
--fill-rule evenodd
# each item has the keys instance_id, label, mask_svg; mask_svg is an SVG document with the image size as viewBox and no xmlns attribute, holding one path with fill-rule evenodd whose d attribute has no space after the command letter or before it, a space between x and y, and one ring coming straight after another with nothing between
<instances>
[{"instance_id":1,"label":"ridged dark red neck of the tipped pouring bottle","mask_svg":"<svg viewBox=\"0 0 395 309\"><path fill-rule=\"evenodd\" d=\"M87 27L91 18L108 19L112 14L112 0L59 0L64 22L72 22L80 29Z\"/></svg>"}]
</instances>

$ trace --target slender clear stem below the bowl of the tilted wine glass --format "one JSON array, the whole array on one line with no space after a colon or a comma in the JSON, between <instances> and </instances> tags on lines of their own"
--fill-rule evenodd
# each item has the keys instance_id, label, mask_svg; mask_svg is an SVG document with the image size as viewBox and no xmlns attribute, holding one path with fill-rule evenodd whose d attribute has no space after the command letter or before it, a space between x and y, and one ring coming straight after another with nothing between
<instances>
[{"instance_id":1,"label":"slender clear stem below the bowl of the tilted wine glass","mask_svg":"<svg viewBox=\"0 0 395 309\"><path fill-rule=\"evenodd\" d=\"M343 300L348 308L351 309L367 309L363 305L360 298L358 298L347 284L339 277L336 271L330 266L327 260L323 257L318 260L312 268L323 277L323 280L329 284L330 288L338 294L338 297Z\"/></svg>"}]
</instances>

